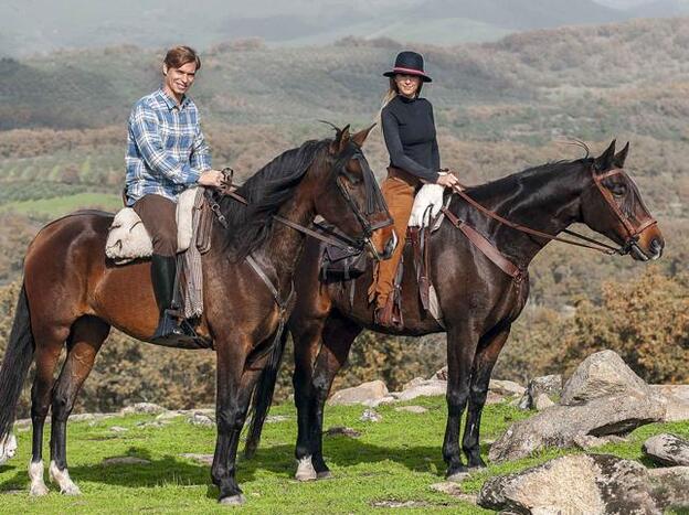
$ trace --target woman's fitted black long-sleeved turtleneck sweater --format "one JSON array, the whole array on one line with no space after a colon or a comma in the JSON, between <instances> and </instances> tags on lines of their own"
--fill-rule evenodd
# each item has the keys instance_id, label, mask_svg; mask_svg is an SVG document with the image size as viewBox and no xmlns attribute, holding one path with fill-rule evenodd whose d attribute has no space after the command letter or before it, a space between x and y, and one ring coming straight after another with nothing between
<instances>
[{"instance_id":1,"label":"woman's fitted black long-sleeved turtleneck sweater","mask_svg":"<svg viewBox=\"0 0 689 515\"><path fill-rule=\"evenodd\" d=\"M441 154L431 103L398 95L383 108L381 121L390 165L435 183Z\"/></svg>"}]
</instances>

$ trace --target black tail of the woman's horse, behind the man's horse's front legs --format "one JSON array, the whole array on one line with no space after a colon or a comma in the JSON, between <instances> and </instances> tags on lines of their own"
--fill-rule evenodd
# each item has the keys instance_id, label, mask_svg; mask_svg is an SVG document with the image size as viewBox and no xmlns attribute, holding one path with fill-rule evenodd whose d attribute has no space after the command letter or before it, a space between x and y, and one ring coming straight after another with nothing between
<instances>
[{"instance_id":1,"label":"black tail of the woman's horse, behind the man's horse's front legs","mask_svg":"<svg viewBox=\"0 0 689 515\"><path fill-rule=\"evenodd\" d=\"M273 347L271 358L263 368L256 387L254 388L251 407L251 425L246 436L246 446L244 447L244 455L250 459L254 457L256 449L258 449L258 443L261 442L261 431L263 430L263 425L268 415L268 409L271 409L275 383L277 383L277 373L283 362L286 343L287 331L283 331L280 340L277 345Z\"/></svg>"}]
</instances>

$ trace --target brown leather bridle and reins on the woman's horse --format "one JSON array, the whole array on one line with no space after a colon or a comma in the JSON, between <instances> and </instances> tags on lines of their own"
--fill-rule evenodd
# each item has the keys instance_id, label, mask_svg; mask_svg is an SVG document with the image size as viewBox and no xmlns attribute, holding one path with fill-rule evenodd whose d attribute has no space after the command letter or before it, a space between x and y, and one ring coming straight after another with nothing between
<instances>
[{"instance_id":1,"label":"brown leather bridle and reins on the woman's horse","mask_svg":"<svg viewBox=\"0 0 689 515\"><path fill-rule=\"evenodd\" d=\"M608 244L606 244L604 242L598 242L597 239L591 238L589 236L585 236L583 234L576 233L576 232L571 230L571 229L564 229L563 233L566 233L570 236L579 238L579 239L581 239L583 242L587 242L587 244L582 243L582 242L576 242L574 239L561 238L559 236L553 236L551 234L543 233L541 230L532 229L532 228L527 227L524 225L520 225L520 224L516 224L513 222L510 222L510 221L504 218L502 216L498 215L497 213L495 213L495 212L484 207L478 202L476 202L474 199L471 199L464 190L455 189L455 190L453 190L453 193L459 195L467 203L469 203L471 206L476 207L476 210L480 211L481 213L484 213L488 217L499 222L502 225L506 225L506 226L508 226L510 228L513 228L515 230L519 230L520 233L530 234L532 236L538 236L540 238L545 238L545 239L550 239L550 240L553 240L553 242L561 242L561 243L569 244L569 245L575 245L577 247L590 248L592 250L597 250L600 253L606 254L608 256L612 256L612 255L615 255L615 254L624 256L624 255L629 254L632 251L632 249L635 248L635 247L638 249L638 238L639 238L639 235L644 230L646 230L648 227L650 227L653 225L656 225L658 222L655 218L649 217L644 223L642 223L637 227L635 227L629 222L629 219L624 215L624 213L622 212L622 210L619 208L619 206L615 202L615 199L613 197L613 194L610 192L610 190L607 190L602 184L602 182L605 179L611 178L613 175L622 174L622 173L625 173L624 170L621 169L621 168L616 168L616 169L613 169L613 170L611 170L608 172L605 172L605 173L602 173L602 174L596 174L595 167L594 165L591 167L591 175L593 178L593 183L595 184L596 189L601 192L601 195L603 196L603 200L605 201L607 206L611 208L613 214L617 217L619 223L624 226L624 228L625 228L625 230L627 233L627 238L626 238L625 243L622 246L619 246L619 247L614 247L614 246L608 245ZM442 211L451 219L451 222L453 222L454 219L457 218L447 207L443 207ZM455 223L455 222L453 222L453 223ZM593 245L589 245L589 244L593 244Z\"/></svg>"}]
</instances>

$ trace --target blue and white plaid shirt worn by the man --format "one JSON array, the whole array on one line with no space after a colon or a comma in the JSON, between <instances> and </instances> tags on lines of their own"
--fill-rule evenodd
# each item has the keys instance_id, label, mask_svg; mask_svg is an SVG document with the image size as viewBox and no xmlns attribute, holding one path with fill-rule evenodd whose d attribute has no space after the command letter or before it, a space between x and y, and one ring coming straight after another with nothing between
<instances>
[{"instance_id":1,"label":"blue and white plaid shirt worn by the man","mask_svg":"<svg viewBox=\"0 0 689 515\"><path fill-rule=\"evenodd\" d=\"M211 169L199 110L189 97L178 105L158 89L136 103L127 137L127 205L144 195L177 201Z\"/></svg>"}]
</instances>

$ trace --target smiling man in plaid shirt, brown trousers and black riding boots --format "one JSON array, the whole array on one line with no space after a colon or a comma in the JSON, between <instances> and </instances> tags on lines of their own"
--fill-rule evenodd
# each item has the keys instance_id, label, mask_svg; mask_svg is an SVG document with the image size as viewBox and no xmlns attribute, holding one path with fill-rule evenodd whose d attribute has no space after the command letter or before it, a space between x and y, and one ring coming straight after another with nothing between
<instances>
[{"instance_id":1,"label":"smiling man in plaid shirt, brown trousers and black riding boots","mask_svg":"<svg viewBox=\"0 0 689 515\"><path fill-rule=\"evenodd\" d=\"M223 180L222 172L211 169L199 111L187 96L199 69L201 60L193 49L170 49L162 64L161 87L137 101L129 116L126 202L144 222L153 245L151 282L160 312L155 341L194 336L170 309L177 275L179 194L197 185L218 187Z\"/></svg>"}]
</instances>

